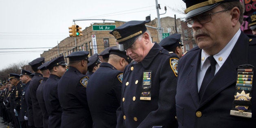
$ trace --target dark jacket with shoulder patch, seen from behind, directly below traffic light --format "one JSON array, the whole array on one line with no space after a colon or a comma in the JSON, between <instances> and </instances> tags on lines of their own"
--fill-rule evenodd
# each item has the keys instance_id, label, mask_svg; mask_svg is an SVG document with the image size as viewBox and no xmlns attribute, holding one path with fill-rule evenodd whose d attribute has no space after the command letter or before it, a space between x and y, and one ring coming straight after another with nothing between
<instances>
[{"instance_id":1,"label":"dark jacket with shoulder patch, seen from behind, directly below traffic light","mask_svg":"<svg viewBox=\"0 0 256 128\"><path fill-rule=\"evenodd\" d=\"M92 128L93 121L86 99L85 77L70 66L60 79L58 96L62 107L61 128Z\"/></svg>"}]
</instances>

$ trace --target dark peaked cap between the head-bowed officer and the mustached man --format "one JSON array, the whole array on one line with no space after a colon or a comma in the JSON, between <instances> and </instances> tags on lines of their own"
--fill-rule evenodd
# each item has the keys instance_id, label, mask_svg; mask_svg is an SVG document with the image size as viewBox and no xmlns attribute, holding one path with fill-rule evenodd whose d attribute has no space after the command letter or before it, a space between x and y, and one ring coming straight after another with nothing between
<instances>
[{"instance_id":1,"label":"dark peaked cap between the head-bowed officer and the mustached man","mask_svg":"<svg viewBox=\"0 0 256 128\"><path fill-rule=\"evenodd\" d=\"M183 44L181 43L181 34L174 33L172 35L169 35L168 37L163 38L159 45L168 51L177 46L183 46Z\"/></svg>"}]
</instances>

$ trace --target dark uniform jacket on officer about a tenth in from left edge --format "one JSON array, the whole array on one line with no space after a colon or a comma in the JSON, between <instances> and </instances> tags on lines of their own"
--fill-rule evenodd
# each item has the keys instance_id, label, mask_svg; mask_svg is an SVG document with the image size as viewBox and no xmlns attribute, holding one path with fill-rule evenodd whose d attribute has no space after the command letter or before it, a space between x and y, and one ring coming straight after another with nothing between
<instances>
[{"instance_id":1,"label":"dark uniform jacket on officer about a tenth in from left edge","mask_svg":"<svg viewBox=\"0 0 256 128\"><path fill-rule=\"evenodd\" d=\"M22 94L21 94L21 96L20 96L20 113L18 114L19 121L26 121L26 120L24 119L24 116L26 115L28 106L27 106L27 104L26 104L25 94L26 94L26 89L29 87L29 84L30 84L30 81L27 82L27 83L24 85L25 88L22 90Z\"/></svg>"}]
</instances>

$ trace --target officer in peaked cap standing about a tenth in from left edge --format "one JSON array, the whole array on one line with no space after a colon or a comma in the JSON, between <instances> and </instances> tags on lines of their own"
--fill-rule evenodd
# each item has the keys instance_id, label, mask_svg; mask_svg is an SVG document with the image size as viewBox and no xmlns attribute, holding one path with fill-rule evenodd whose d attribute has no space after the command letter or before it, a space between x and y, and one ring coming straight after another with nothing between
<instances>
[{"instance_id":1,"label":"officer in peaked cap standing about a tenth in from left edge","mask_svg":"<svg viewBox=\"0 0 256 128\"><path fill-rule=\"evenodd\" d=\"M29 88L29 84L32 78L31 74L32 73L30 71L26 71L24 69L22 69L20 73L20 80L23 84L25 84L24 89L22 89L22 94L20 97L20 113L18 115L21 128L28 128L28 121L24 119L28 109L28 106L26 104L25 93L26 93L26 89Z\"/></svg>"}]
</instances>

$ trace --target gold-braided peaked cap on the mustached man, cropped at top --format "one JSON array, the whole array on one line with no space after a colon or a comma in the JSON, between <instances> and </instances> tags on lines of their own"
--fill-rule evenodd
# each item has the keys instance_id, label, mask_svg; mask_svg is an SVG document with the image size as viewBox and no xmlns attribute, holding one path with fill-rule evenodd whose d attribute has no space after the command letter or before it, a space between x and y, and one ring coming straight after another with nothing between
<instances>
[{"instance_id":1,"label":"gold-braided peaked cap on the mustached man, cropped at top","mask_svg":"<svg viewBox=\"0 0 256 128\"><path fill-rule=\"evenodd\" d=\"M209 11L214 7L218 6L222 2L231 2L231 1L240 1L240 0L183 0L186 3L185 13L186 18L192 18L195 15Z\"/></svg>"}]
</instances>

